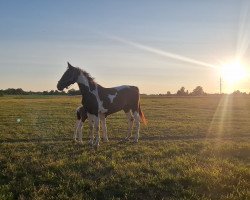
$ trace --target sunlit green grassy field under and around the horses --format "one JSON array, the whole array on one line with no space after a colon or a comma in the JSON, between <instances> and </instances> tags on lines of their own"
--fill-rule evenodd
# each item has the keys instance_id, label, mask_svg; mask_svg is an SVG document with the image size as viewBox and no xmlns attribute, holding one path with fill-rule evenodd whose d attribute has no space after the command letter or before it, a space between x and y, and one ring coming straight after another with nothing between
<instances>
[{"instance_id":1,"label":"sunlit green grassy field under and around the horses","mask_svg":"<svg viewBox=\"0 0 250 200\"><path fill-rule=\"evenodd\" d=\"M250 199L250 97L143 97L148 126L73 142L80 97L0 98L0 199ZM18 123L17 119L21 119Z\"/></svg>"}]
</instances>

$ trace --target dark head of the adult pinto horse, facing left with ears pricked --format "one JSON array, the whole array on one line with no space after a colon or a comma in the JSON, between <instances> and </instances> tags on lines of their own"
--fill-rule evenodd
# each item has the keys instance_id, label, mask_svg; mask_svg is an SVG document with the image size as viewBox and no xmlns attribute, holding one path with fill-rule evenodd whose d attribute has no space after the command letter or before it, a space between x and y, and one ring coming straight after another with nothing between
<instances>
[{"instance_id":1,"label":"dark head of the adult pinto horse, facing left with ears pricked","mask_svg":"<svg viewBox=\"0 0 250 200\"><path fill-rule=\"evenodd\" d=\"M66 72L64 72L62 78L57 83L57 89L62 91L64 88L74 84L77 81L78 75L79 69L68 63Z\"/></svg>"}]
</instances>

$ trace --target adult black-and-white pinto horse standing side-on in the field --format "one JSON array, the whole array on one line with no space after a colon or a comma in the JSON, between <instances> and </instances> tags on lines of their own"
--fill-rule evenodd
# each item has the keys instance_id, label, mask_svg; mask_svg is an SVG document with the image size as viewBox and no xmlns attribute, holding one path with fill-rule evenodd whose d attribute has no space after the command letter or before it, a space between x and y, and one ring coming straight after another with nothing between
<instances>
[{"instance_id":1,"label":"adult black-and-white pinto horse standing side-on in the field","mask_svg":"<svg viewBox=\"0 0 250 200\"><path fill-rule=\"evenodd\" d=\"M128 132L125 140L132 136L132 128L135 122L135 142L139 139L140 118L146 124L146 118L140 106L140 93L136 86L118 86L104 88L97 84L86 71L73 67L68 63L68 68L58 81L57 89L62 91L71 84L77 83L82 94L82 104L86 107L87 113L93 117L94 132L97 134L94 146L98 147L100 142L99 122L106 125L106 117L123 110L128 119ZM106 127L106 126L103 126ZM104 135L107 129L104 128ZM94 136L92 135L92 144Z\"/></svg>"}]
</instances>

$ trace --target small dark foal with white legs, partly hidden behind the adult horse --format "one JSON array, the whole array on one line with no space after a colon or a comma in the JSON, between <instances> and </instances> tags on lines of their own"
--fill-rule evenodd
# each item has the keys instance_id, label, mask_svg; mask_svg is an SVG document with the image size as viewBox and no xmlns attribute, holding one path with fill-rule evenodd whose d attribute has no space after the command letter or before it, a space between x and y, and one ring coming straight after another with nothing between
<instances>
[{"instance_id":1,"label":"small dark foal with white legs, partly hidden behind the adult horse","mask_svg":"<svg viewBox=\"0 0 250 200\"><path fill-rule=\"evenodd\" d=\"M94 120L93 120L93 115L89 114L87 112L86 106L79 106L76 110L76 130L74 134L74 140L76 142L82 143L82 128L83 128L83 123L88 119L89 122L89 134L90 134L90 144L93 144L94 140ZM107 130L106 123L102 123L102 129ZM108 136L107 136L107 131L103 131L103 141L108 142Z\"/></svg>"}]
</instances>

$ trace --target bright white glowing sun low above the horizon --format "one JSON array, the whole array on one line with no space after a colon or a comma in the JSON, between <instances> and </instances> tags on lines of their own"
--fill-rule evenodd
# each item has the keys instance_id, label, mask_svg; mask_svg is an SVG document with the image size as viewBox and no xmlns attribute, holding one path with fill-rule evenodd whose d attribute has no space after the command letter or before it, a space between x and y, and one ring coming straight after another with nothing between
<instances>
[{"instance_id":1,"label":"bright white glowing sun low above the horizon","mask_svg":"<svg viewBox=\"0 0 250 200\"><path fill-rule=\"evenodd\" d=\"M246 68L240 61L222 65L220 74L229 84L235 84L247 76Z\"/></svg>"}]
</instances>

